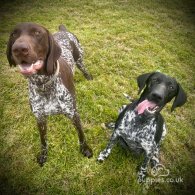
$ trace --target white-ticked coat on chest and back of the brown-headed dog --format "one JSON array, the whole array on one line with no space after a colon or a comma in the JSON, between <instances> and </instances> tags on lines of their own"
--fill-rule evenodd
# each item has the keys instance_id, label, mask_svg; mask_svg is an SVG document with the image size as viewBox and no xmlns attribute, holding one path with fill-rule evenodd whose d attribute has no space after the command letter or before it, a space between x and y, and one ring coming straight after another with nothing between
<instances>
[{"instance_id":1,"label":"white-ticked coat on chest and back of the brown-headed dog","mask_svg":"<svg viewBox=\"0 0 195 195\"><path fill-rule=\"evenodd\" d=\"M61 58L68 63L74 73L75 63L80 64L83 55L83 50L77 38L72 33L64 31L59 31L53 36L61 47ZM79 58L76 62L72 54L70 41L74 42L79 51ZM43 120L45 116L51 114L65 114L69 118L73 118L75 114L74 100L72 94L62 83L60 74L49 87L40 90L40 87L44 87L44 83L47 83L52 77L53 75L38 74L29 77L29 100L32 112L38 120Z\"/></svg>"}]
</instances>

